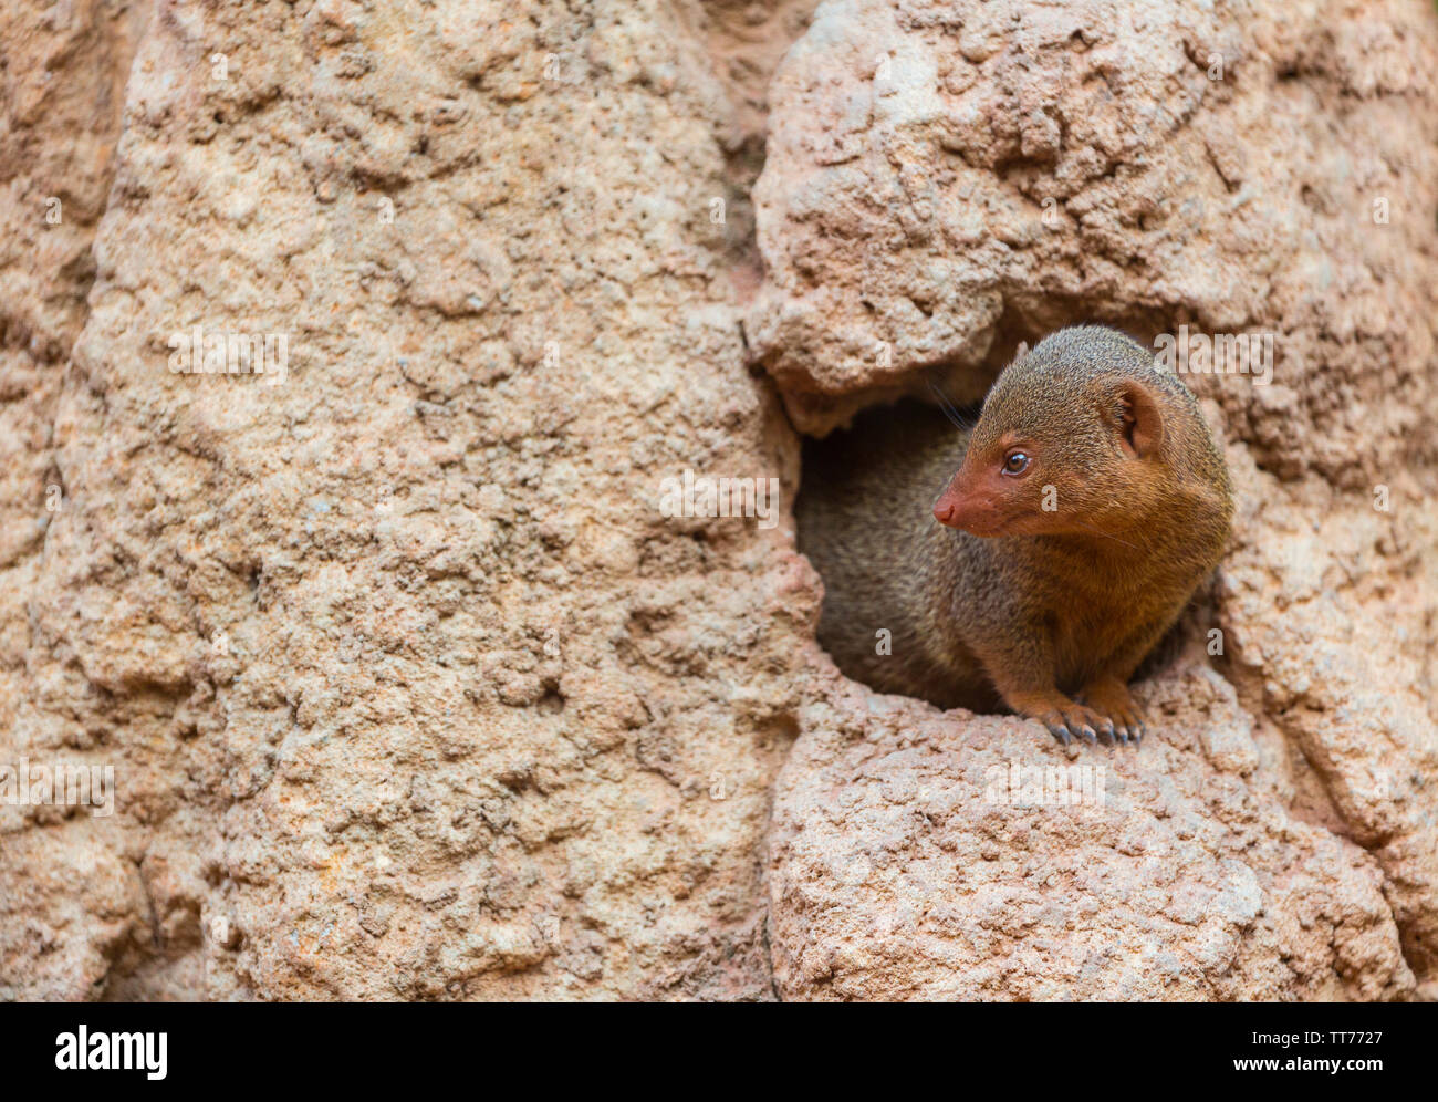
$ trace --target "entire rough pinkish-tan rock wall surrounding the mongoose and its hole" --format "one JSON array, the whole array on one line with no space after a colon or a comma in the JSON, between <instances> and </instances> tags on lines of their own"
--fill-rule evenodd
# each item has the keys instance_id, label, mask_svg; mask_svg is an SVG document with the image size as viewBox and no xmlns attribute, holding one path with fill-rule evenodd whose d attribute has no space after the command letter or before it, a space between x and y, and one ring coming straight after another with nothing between
<instances>
[{"instance_id":1,"label":"entire rough pinkish-tan rock wall surrounding the mongoose and its hole","mask_svg":"<svg viewBox=\"0 0 1438 1102\"><path fill-rule=\"evenodd\" d=\"M1434 993L1438 20L807 10L0 16L0 762L118 785L0 806L0 997ZM1076 318L1280 360L1194 380L1234 548L1068 762L837 675L785 407ZM173 374L194 325L286 377Z\"/></svg>"}]
</instances>

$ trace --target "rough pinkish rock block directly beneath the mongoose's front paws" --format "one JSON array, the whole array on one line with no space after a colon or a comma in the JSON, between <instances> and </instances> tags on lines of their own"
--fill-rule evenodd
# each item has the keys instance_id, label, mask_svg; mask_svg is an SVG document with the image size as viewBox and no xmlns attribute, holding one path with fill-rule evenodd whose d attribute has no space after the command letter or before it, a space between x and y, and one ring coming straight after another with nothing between
<instances>
[{"instance_id":1,"label":"rough pinkish rock block directly beneath the mongoose's front paws","mask_svg":"<svg viewBox=\"0 0 1438 1102\"><path fill-rule=\"evenodd\" d=\"M1378 863L1287 813L1271 780L1280 747L1255 742L1227 682L1185 665L1146 705L1160 739L1073 762L1012 722L959 727L897 698L840 693L837 706L805 712L771 839L779 990L1143 1001L1409 993ZM1070 768L1091 773L1073 784L1048 775ZM1068 793L1084 801L1057 803Z\"/></svg>"}]
</instances>

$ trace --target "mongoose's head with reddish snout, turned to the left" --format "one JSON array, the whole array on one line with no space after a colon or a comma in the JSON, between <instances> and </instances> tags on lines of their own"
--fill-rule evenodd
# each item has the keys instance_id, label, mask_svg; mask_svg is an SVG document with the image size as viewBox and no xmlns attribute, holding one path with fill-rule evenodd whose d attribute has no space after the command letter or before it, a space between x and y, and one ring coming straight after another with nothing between
<instances>
[{"instance_id":1,"label":"mongoose's head with reddish snout, turned to the left","mask_svg":"<svg viewBox=\"0 0 1438 1102\"><path fill-rule=\"evenodd\" d=\"M1060 329L995 380L933 515L981 537L1116 535L1175 499L1199 450L1221 468L1194 397L1143 345Z\"/></svg>"}]
</instances>

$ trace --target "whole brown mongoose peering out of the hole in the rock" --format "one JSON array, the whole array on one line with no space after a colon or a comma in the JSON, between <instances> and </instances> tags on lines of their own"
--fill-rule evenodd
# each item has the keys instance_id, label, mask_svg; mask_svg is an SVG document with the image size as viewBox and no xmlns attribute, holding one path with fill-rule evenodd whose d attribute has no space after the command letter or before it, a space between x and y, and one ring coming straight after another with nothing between
<instances>
[{"instance_id":1,"label":"whole brown mongoose peering out of the hole in the rock","mask_svg":"<svg viewBox=\"0 0 1438 1102\"><path fill-rule=\"evenodd\" d=\"M812 447L800 548L840 669L943 708L1007 705L1064 742L1142 737L1129 678L1232 516L1192 394L1143 345L1061 329L1004 370L972 432L890 409Z\"/></svg>"}]
</instances>

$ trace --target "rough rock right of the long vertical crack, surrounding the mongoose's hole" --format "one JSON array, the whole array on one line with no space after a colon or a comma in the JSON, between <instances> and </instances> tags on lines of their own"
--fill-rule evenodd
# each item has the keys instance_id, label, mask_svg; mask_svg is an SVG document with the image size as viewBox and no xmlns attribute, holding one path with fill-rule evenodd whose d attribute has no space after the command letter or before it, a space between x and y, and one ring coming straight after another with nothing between
<instances>
[{"instance_id":1,"label":"rough rock right of the long vertical crack, surrounding the mongoose's hole","mask_svg":"<svg viewBox=\"0 0 1438 1102\"><path fill-rule=\"evenodd\" d=\"M817 10L771 89L748 327L801 426L916 368L981 394L1083 318L1277 357L1268 386L1188 378L1240 499L1225 655L1149 686L1159 745L1102 813L985 804L985 762L1057 755L1011 722L805 712L771 850L785 996L1432 991L1435 32L1409 4Z\"/></svg>"}]
</instances>

